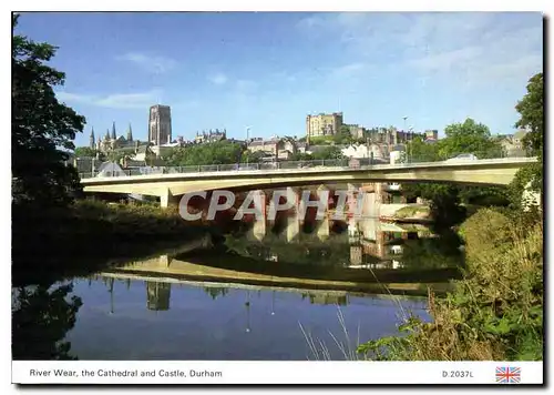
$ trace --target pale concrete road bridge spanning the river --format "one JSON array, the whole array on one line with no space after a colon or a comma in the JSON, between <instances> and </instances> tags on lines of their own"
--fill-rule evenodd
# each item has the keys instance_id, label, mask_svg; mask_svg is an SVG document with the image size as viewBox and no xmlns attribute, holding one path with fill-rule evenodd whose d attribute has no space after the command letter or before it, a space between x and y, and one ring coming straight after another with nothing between
<instances>
[{"instance_id":1,"label":"pale concrete road bridge spanning the river","mask_svg":"<svg viewBox=\"0 0 554 395\"><path fill-rule=\"evenodd\" d=\"M454 182L507 185L520 168L536 158L501 158L399 164L349 165L348 161L278 162L276 164L157 168L113 174L81 174L84 192L160 196L162 206L185 193L213 190L259 190L335 183ZM137 174L138 173L138 174Z\"/></svg>"}]
</instances>

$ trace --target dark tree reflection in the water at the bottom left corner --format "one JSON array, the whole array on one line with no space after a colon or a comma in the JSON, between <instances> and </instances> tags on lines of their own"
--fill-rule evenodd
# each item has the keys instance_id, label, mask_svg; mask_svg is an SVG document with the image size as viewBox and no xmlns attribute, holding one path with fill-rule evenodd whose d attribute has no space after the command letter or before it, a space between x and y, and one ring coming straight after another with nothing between
<instances>
[{"instance_id":1,"label":"dark tree reflection in the water at the bottom left corner","mask_svg":"<svg viewBox=\"0 0 554 395\"><path fill-rule=\"evenodd\" d=\"M76 359L66 333L75 325L82 301L68 297L73 284L12 288L12 358Z\"/></svg>"}]
</instances>

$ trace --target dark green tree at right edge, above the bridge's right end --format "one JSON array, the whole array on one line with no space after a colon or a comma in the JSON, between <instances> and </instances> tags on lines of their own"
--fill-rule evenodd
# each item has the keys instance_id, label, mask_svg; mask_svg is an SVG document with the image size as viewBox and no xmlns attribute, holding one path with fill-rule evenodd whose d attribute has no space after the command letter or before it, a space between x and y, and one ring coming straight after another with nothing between
<instances>
[{"instance_id":1,"label":"dark green tree at right edge, above the bridge's right end","mask_svg":"<svg viewBox=\"0 0 554 395\"><path fill-rule=\"evenodd\" d=\"M544 144L544 81L543 73L533 75L527 83L527 93L517 102L520 113L516 128L524 128L529 133L523 144L533 155L542 155Z\"/></svg>"}]
</instances>

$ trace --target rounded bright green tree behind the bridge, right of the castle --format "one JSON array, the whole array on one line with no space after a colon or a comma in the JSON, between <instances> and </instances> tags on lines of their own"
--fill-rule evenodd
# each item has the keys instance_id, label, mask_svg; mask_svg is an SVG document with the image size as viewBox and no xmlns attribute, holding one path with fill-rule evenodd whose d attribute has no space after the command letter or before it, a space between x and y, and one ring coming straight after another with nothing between
<instances>
[{"instance_id":1,"label":"rounded bright green tree behind the bridge, right of the castle","mask_svg":"<svg viewBox=\"0 0 554 395\"><path fill-rule=\"evenodd\" d=\"M461 153L473 153L479 159L502 155L502 145L492 139L489 128L471 118L463 123L448 125L444 134L447 136L438 142L439 156L442 160Z\"/></svg>"}]
</instances>

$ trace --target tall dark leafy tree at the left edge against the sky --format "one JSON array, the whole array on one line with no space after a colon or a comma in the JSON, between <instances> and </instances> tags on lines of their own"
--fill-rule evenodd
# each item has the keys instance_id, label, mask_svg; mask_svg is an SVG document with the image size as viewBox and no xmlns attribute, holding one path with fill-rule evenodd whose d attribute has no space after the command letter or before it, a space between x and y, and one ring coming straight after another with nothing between
<instances>
[{"instance_id":1,"label":"tall dark leafy tree at the left edge against the sky","mask_svg":"<svg viewBox=\"0 0 554 395\"><path fill-rule=\"evenodd\" d=\"M12 19L13 28L19 16ZM53 87L63 72L47 65L55 47L14 36L12 41L12 194L13 203L65 205L80 190L76 170L64 163L84 118L60 103Z\"/></svg>"}]
</instances>

